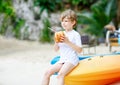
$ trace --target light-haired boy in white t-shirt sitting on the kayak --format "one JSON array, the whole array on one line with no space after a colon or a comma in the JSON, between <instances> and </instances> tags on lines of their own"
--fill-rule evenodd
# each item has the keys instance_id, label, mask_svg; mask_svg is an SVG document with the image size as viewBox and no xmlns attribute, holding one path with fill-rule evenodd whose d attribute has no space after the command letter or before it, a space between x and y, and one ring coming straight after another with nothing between
<instances>
[{"instance_id":1,"label":"light-haired boy in white t-shirt sitting on the kayak","mask_svg":"<svg viewBox=\"0 0 120 85\"><path fill-rule=\"evenodd\" d=\"M60 42L55 42L55 51L60 51L60 60L48 68L41 85L49 85L50 76L58 72L58 85L64 85L64 77L79 63L78 53L82 51L81 37L73 28L76 25L76 14L66 10L61 14L61 26L65 36L60 37Z\"/></svg>"}]
</instances>

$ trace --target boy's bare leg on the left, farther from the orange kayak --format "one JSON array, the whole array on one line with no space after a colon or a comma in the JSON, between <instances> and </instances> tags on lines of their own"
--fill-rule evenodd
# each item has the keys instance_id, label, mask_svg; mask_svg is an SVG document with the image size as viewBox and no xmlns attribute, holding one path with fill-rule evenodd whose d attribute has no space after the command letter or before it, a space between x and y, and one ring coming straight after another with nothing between
<instances>
[{"instance_id":1,"label":"boy's bare leg on the left, farther from the orange kayak","mask_svg":"<svg viewBox=\"0 0 120 85\"><path fill-rule=\"evenodd\" d=\"M48 70L43 75L43 80L42 80L41 85L49 85L50 76L54 74L55 72L58 72L60 68L62 67L62 65L63 64L57 63L57 64L52 65L50 68L48 68Z\"/></svg>"}]
</instances>

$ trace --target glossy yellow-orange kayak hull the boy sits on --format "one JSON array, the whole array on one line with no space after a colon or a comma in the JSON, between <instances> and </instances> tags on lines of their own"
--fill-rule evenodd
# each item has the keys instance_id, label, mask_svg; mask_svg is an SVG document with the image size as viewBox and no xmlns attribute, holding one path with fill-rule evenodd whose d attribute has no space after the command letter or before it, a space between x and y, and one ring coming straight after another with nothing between
<instances>
[{"instance_id":1,"label":"glossy yellow-orange kayak hull the boy sits on","mask_svg":"<svg viewBox=\"0 0 120 85\"><path fill-rule=\"evenodd\" d=\"M120 81L120 55L81 60L65 77L65 85L108 85Z\"/></svg>"}]
</instances>

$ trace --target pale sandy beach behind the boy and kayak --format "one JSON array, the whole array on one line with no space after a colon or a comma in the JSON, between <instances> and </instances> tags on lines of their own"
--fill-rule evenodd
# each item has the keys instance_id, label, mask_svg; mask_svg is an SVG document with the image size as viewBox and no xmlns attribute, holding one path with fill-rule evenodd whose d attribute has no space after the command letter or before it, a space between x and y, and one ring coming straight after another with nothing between
<instances>
[{"instance_id":1,"label":"pale sandy beach behind the boy and kayak","mask_svg":"<svg viewBox=\"0 0 120 85\"><path fill-rule=\"evenodd\" d=\"M94 53L93 49L90 49L91 53ZM120 51L120 48L113 47L112 50ZM88 48L84 50L87 51ZM96 46L96 54L109 53L105 44ZM53 50L53 44L0 36L0 85L40 85L43 73L57 55L59 53ZM57 85L55 77L51 76L50 85Z\"/></svg>"}]
</instances>

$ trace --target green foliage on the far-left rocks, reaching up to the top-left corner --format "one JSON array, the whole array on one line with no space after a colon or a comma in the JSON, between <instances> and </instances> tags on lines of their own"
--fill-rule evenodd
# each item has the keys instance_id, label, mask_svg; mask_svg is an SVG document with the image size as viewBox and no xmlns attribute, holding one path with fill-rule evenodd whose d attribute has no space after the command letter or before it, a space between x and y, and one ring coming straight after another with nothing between
<instances>
[{"instance_id":1,"label":"green foliage on the far-left rocks, reaching up to the top-left corner","mask_svg":"<svg viewBox=\"0 0 120 85\"><path fill-rule=\"evenodd\" d=\"M0 0L0 14L4 15L2 25L0 26L0 34L5 35L9 26L16 38L20 37L20 29L24 25L25 20L19 19L14 11L11 0Z\"/></svg>"}]
</instances>

